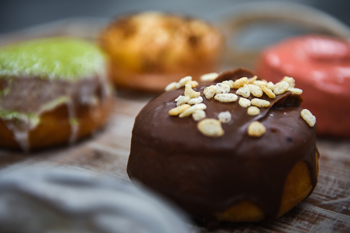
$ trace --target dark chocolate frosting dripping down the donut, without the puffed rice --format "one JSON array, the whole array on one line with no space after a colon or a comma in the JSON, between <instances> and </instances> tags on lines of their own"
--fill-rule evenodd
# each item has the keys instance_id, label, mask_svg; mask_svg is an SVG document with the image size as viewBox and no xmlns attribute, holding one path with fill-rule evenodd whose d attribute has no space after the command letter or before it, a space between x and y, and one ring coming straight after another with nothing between
<instances>
[{"instance_id":1,"label":"dark chocolate frosting dripping down the donut, without the puffed rice","mask_svg":"<svg viewBox=\"0 0 350 233\"><path fill-rule=\"evenodd\" d=\"M184 88L165 92L151 100L135 119L127 172L182 206L194 217L212 218L233 204L250 200L266 218L277 216L286 177L298 161L308 165L315 187L316 126L300 116L299 95L287 91L270 101L260 114L250 116L238 101L222 103L206 99L203 89L224 80L252 77L246 70L225 72L214 82L202 82L207 118L229 111L232 119L222 124L221 138L210 138L197 130L192 117L169 116ZM231 88L230 93L236 93ZM240 96L238 97L240 98ZM248 99L252 99L252 96ZM266 127L260 138L247 135L247 126L259 121Z\"/></svg>"}]
</instances>

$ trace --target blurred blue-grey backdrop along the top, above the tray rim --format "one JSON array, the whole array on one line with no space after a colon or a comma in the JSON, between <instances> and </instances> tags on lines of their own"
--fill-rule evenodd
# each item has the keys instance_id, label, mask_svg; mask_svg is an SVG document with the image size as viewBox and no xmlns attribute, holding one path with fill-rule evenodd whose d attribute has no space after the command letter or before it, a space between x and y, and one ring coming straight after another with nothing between
<instances>
[{"instance_id":1,"label":"blurred blue-grey backdrop along the top, above the tray rim","mask_svg":"<svg viewBox=\"0 0 350 233\"><path fill-rule=\"evenodd\" d=\"M115 16L142 10L162 10L206 20L227 16L235 7L259 0L1 0L0 34L70 17ZM260 1L261 2L261 1ZM281 1L278 1L281 2ZM349 0L290 0L322 10L350 26Z\"/></svg>"}]
</instances>

